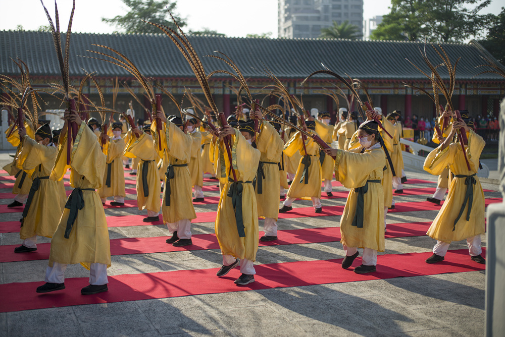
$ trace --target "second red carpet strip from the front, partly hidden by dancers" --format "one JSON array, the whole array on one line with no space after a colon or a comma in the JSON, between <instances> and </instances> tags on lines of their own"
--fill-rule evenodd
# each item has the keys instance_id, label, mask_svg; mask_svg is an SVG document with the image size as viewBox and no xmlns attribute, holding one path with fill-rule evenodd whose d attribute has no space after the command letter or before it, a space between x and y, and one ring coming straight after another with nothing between
<instances>
[{"instance_id":1,"label":"second red carpet strip from the front, partly hidden by dancers","mask_svg":"<svg viewBox=\"0 0 505 337\"><path fill-rule=\"evenodd\" d=\"M18 222L19 223L19 222ZM396 223L387 225L386 238L423 236L426 234L431 222ZM19 226L19 225L18 225ZM174 247L165 242L169 238L126 238L111 240L111 255L125 254L151 254L166 253L184 250L206 250L219 249L219 245L214 234L200 234L192 237L193 244L186 247ZM260 232L260 236L264 233ZM260 242L260 246L278 246L307 243L333 242L340 240L340 230L338 227L314 228L287 230L278 232L279 240L275 242ZM18 245L0 246L0 262L33 261L45 260L49 258L51 244L41 243L37 245L37 251L30 253L14 253L14 248Z\"/></svg>"}]
</instances>

